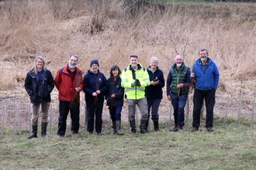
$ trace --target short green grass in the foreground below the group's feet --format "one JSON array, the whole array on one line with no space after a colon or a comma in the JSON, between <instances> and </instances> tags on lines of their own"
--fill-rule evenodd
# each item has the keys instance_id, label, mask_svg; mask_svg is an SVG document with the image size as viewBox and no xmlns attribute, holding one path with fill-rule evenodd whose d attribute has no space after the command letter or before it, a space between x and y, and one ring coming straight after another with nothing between
<instances>
[{"instance_id":1,"label":"short green grass in the foreground below the group's feet","mask_svg":"<svg viewBox=\"0 0 256 170\"><path fill-rule=\"evenodd\" d=\"M81 127L81 138L67 133L64 138L27 140L5 136L0 141L0 169L255 169L255 128L228 117L226 128L223 119L215 118L214 132L206 128L192 133L161 131L150 134L110 135L103 128L102 136L88 136ZM244 122L246 120L244 119ZM202 119L202 126L205 120ZM24 132L23 132L24 133Z\"/></svg>"}]
</instances>

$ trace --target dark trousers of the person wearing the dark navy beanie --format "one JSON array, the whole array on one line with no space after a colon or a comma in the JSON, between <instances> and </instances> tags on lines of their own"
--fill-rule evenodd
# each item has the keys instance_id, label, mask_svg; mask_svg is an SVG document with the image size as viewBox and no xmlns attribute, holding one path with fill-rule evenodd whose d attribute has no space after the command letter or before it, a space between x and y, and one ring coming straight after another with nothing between
<instances>
[{"instance_id":1,"label":"dark trousers of the person wearing the dark navy beanie","mask_svg":"<svg viewBox=\"0 0 256 170\"><path fill-rule=\"evenodd\" d=\"M95 116L95 131L102 132L102 109L103 101L98 101L96 110L93 108L93 102L86 101L87 107L87 131L93 132L94 129L94 116Z\"/></svg>"}]
</instances>

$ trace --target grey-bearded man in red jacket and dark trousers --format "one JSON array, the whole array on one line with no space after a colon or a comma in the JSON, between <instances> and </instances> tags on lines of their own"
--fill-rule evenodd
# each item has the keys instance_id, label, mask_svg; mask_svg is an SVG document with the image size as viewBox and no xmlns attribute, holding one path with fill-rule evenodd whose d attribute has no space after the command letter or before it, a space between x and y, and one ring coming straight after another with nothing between
<instances>
[{"instance_id":1,"label":"grey-bearded man in red jacket and dark trousers","mask_svg":"<svg viewBox=\"0 0 256 170\"><path fill-rule=\"evenodd\" d=\"M83 88L83 79L81 70L77 67L78 56L69 56L68 64L57 71L55 78L55 86L59 90L59 123L57 135L64 137L66 132L66 121L68 111L71 111L71 131L73 134L78 133L80 119L80 95L79 92Z\"/></svg>"}]
</instances>

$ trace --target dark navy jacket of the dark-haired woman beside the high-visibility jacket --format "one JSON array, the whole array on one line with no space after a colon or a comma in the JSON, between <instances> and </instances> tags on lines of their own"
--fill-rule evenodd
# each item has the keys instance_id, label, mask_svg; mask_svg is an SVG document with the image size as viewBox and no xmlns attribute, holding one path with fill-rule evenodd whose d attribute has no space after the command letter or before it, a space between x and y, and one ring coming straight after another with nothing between
<instances>
[{"instance_id":1,"label":"dark navy jacket of the dark-haired woman beside the high-visibility jacket","mask_svg":"<svg viewBox=\"0 0 256 170\"><path fill-rule=\"evenodd\" d=\"M109 106L109 99L111 95L114 93L116 97L112 98L112 106L123 106L123 94L124 88L121 87L121 78L120 76L117 77L116 83L113 85L112 76L108 79L108 93L106 93L107 104Z\"/></svg>"}]
</instances>

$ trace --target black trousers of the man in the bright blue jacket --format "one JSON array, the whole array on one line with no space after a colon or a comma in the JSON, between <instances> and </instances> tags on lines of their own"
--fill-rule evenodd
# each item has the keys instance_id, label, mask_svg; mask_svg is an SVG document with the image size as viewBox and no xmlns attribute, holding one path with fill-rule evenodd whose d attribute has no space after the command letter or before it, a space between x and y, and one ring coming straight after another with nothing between
<instances>
[{"instance_id":1,"label":"black trousers of the man in the bright blue jacket","mask_svg":"<svg viewBox=\"0 0 256 170\"><path fill-rule=\"evenodd\" d=\"M213 128L213 107L215 104L215 90L198 90L194 93L193 128L200 126L200 111L203 97L206 100L206 128Z\"/></svg>"}]
</instances>

